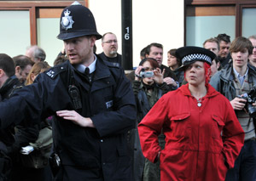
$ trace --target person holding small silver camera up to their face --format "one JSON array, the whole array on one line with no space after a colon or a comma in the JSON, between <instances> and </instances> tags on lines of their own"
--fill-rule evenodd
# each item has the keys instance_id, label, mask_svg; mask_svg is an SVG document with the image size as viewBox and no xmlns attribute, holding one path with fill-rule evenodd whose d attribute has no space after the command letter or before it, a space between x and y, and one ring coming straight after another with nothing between
<instances>
[{"instance_id":1,"label":"person holding small silver camera up to their face","mask_svg":"<svg viewBox=\"0 0 256 181\"><path fill-rule=\"evenodd\" d=\"M137 124L142 121L148 111L170 89L164 82L165 70L160 71L156 59L143 59L135 70L135 80L132 82L133 92L137 100ZM165 137L160 135L159 141L162 148ZM131 130L131 148L133 152L133 179L132 180L160 180L160 166L145 160L137 133L137 125Z\"/></svg>"}]
</instances>

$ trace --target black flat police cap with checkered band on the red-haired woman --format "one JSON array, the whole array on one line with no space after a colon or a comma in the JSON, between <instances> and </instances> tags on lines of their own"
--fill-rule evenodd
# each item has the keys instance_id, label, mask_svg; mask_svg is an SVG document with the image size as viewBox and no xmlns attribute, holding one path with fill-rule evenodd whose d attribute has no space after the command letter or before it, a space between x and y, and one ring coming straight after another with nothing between
<instances>
[{"instance_id":1,"label":"black flat police cap with checkered band on the red-haired woman","mask_svg":"<svg viewBox=\"0 0 256 181\"><path fill-rule=\"evenodd\" d=\"M212 65L212 59L216 56L212 51L206 48L193 46L177 48L176 55L177 58L182 61L182 65L177 68L177 71L184 71L187 65L193 64L195 61L203 61Z\"/></svg>"}]
</instances>

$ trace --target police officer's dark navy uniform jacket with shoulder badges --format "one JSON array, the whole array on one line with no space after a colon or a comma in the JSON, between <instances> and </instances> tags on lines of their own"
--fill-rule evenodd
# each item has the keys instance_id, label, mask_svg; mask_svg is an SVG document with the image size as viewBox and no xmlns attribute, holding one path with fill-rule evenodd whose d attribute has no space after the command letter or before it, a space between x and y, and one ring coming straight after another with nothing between
<instances>
[{"instance_id":1,"label":"police officer's dark navy uniform jacket with shoulder badges","mask_svg":"<svg viewBox=\"0 0 256 181\"><path fill-rule=\"evenodd\" d=\"M61 164L102 168L104 180L129 180L126 133L135 124L135 98L124 71L102 59L96 61L91 85L69 61L40 74L32 85L0 104L0 127L18 123L24 116L40 120L57 110L74 110L70 85L79 89L82 100L83 107L77 111L90 117L96 128L79 127L56 116L53 138Z\"/></svg>"}]
</instances>

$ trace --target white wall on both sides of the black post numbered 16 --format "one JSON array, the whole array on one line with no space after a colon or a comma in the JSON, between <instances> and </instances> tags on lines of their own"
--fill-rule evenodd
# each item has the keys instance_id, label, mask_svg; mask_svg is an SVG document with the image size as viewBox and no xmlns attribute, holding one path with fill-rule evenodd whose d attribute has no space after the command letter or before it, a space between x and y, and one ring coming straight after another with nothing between
<instances>
[{"instance_id":1,"label":"white wall on both sides of the black post numbered 16","mask_svg":"<svg viewBox=\"0 0 256 181\"><path fill-rule=\"evenodd\" d=\"M164 46L164 61L167 64L167 51L183 46L184 2L182 0L133 0L133 66L140 62L140 51L151 42ZM112 31L121 46L121 0L89 0L89 8L96 19L100 34ZM96 42L97 54L102 52L102 41Z\"/></svg>"}]
</instances>

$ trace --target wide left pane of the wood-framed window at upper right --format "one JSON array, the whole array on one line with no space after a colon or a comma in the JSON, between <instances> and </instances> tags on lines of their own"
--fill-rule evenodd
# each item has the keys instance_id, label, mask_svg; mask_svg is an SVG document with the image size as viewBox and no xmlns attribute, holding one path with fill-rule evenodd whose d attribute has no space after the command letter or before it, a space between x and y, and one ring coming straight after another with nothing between
<instances>
[{"instance_id":1,"label":"wide left pane of the wood-framed window at upper right","mask_svg":"<svg viewBox=\"0 0 256 181\"><path fill-rule=\"evenodd\" d=\"M189 7L186 14L186 45L202 47L202 43L219 33L235 37L235 7Z\"/></svg>"}]
</instances>

